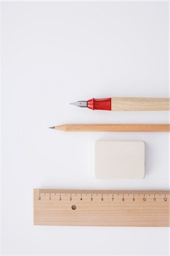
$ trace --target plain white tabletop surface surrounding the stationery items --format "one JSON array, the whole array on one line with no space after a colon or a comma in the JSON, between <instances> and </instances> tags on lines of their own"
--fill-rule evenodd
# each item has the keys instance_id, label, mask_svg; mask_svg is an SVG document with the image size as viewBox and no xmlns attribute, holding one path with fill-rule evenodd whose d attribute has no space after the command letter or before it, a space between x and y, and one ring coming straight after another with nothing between
<instances>
[{"instance_id":1,"label":"plain white tabletop surface surrounding the stationery items","mask_svg":"<svg viewBox=\"0 0 170 256\"><path fill-rule=\"evenodd\" d=\"M2 2L2 254L168 255L168 228L33 226L33 188L168 189L168 133L62 123L167 123L166 112L69 105L168 97L168 2ZM146 142L143 180L97 180L94 142Z\"/></svg>"}]
</instances>

